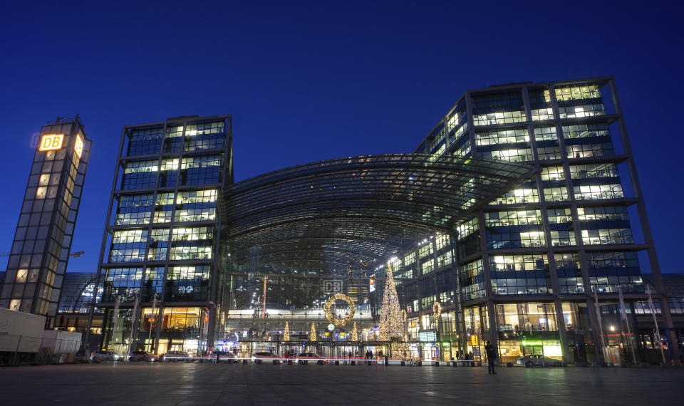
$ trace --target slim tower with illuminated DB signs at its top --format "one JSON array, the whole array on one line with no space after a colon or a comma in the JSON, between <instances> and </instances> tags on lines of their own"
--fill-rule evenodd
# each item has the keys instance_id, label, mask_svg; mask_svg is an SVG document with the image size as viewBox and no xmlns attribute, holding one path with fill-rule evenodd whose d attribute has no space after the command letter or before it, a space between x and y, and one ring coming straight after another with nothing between
<instances>
[{"instance_id":1,"label":"slim tower with illuminated DB signs at its top","mask_svg":"<svg viewBox=\"0 0 684 406\"><path fill-rule=\"evenodd\" d=\"M41 128L0 290L0 307L46 316L46 328L57 313L90 145L78 115Z\"/></svg>"}]
</instances>

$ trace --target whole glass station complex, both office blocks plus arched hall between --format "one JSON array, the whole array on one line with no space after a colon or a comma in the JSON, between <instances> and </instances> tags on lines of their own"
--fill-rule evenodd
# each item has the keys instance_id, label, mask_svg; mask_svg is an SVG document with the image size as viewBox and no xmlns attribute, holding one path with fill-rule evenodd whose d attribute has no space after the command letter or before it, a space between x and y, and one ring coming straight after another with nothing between
<instances>
[{"instance_id":1,"label":"whole glass station complex, both office blocks plus arched hall between","mask_svg":"<svg viewBox=\"0 0 684 406\"><path fill-rule=\"evenodd\" d=\"M237 183L231 137L229 116L124 128L105 347L388 353L391 269L393 337L419 358L482 360L490 340L504 362L619 359L644 348L640 257L672 326L611 77L467 90L411 154Z\"/></svg>"}]
</instances>

